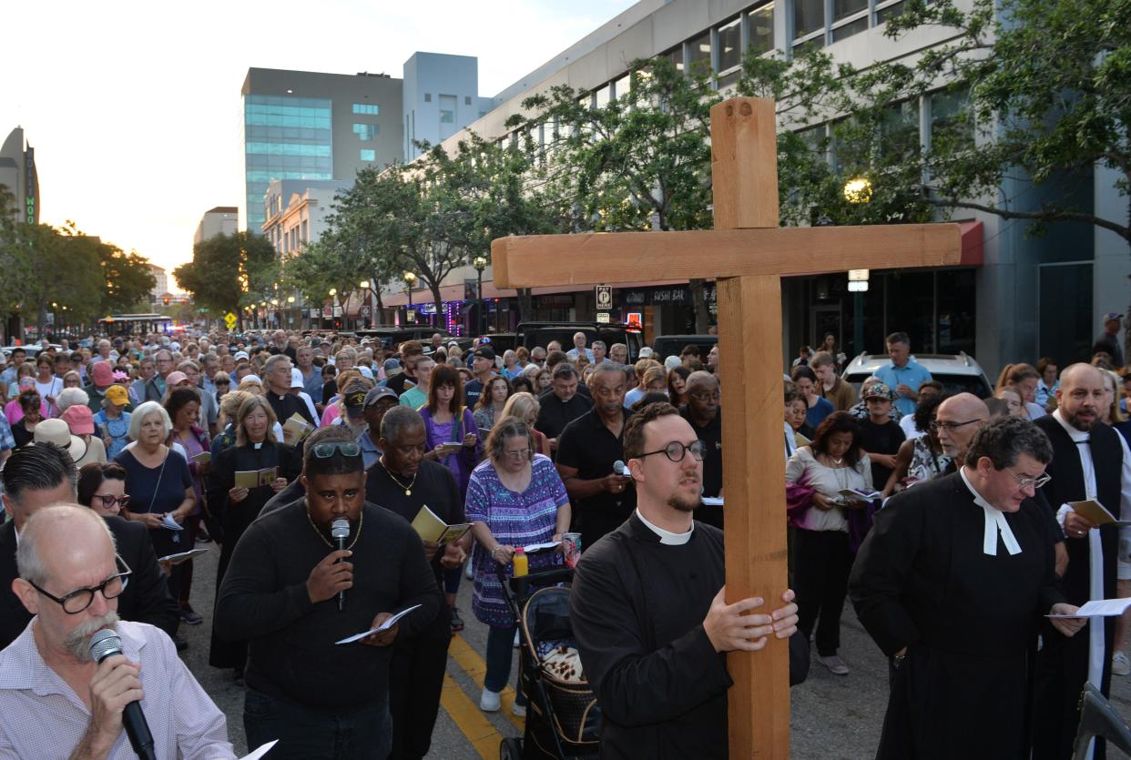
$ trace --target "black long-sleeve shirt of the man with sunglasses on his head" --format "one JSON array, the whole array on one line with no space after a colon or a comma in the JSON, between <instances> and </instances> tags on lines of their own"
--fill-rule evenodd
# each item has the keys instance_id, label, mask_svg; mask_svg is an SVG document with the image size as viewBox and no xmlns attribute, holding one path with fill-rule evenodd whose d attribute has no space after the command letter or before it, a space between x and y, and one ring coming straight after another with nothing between
<instances>
[{"instance_id":1,"label":"black long-sleeve shirt of the man with sunglasses on his head","mask_svg":"<svg viewBox=\"0 0 1131 760\"><path fill-rule=\"evenodd\" d=\"M402 518L366 503L353 545L353 588L313 604L310 571L333 550L307 517L305 500L257 519L243 534L216 602L216 629L250 639L248 685L313 709L356 709L388 692L392 647L334 642L372 627L382 612L422 605L399 622L398 639L434 620L442 602L420 536Z\"/></svg>"}]
</instances>

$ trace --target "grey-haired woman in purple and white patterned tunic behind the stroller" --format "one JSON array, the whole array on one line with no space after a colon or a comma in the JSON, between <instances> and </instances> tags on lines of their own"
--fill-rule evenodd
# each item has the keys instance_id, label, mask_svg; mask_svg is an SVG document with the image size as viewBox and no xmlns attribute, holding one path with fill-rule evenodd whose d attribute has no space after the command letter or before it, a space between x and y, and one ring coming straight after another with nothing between
<instances>
[{"instance_id":1,"label":"grey-haired woman in purple and white patterned tunic behind the stroller","mask_svg":"<svg viewBox=\"0 0 1131 760\"><path fill-rule=\"evenodd\" d=\"M487 458L473 472L467 486L467 521L475 535L475 591L472 610L490 627L487 672L480 709L499 709L499 692L510 680L511 642L516 621L502 596L497 575L512 572L516 550L530 544L561 541L569 530L569 496L549 457L534 452L534 435L517 417L500 420L486 443ZM558 564L558 552L532 554L529 568ZM526 715L518 689L516 715Z\"/></svg>"}]
</instances>

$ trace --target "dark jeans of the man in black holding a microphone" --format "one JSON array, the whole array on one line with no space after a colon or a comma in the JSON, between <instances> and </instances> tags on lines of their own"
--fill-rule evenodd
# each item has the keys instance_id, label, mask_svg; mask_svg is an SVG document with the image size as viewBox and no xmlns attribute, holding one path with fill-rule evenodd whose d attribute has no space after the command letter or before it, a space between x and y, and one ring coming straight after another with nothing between
<instances>
[{"instance_id":1,"label":"dark jeans of the man in black holding a microphone","mask_svg":"<svg viewBox=\"0 0 1131 760\"><path fill-rule=\"evenodd\" d=\"M248 689L243 699L248 750L273 740L271 760L369 760L392 749L388 697L353 711L311 710L283 697Z\"/></svg>"}]
</instances>

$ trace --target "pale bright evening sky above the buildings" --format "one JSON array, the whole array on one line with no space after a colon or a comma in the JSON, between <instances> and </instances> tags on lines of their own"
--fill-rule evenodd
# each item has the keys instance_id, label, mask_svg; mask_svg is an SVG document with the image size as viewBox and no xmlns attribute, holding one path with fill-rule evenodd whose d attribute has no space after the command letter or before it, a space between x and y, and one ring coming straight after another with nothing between
<instances>
[{"instance_id":1,"label":"pale bright evening sky above the buildings","mask_svg":"<svg viewBox=\"0 0 1131 760\"><path fill-rule=\"evenodd\" d=\"M415 51L474 55L493 96L633 2L23 3L0 15L0 142L19 126L35 148L41 222L172 269L205 211L239 205L249 68L399 78Z\"/></svg>"}]
</instances>

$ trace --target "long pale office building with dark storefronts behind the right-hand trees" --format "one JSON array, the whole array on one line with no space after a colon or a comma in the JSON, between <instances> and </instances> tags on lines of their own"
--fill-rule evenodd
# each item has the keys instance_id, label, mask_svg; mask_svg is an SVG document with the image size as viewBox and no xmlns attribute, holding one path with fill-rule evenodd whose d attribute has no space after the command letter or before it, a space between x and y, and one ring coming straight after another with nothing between
<instances>
[{"instance_id":1,"label":"long pale office building with dark storefronts behind the right-hand trees","mask_svg":"<svg viewBox=\"0 0 1131 760\"><path fill-rule=\"evenodd\" d=\"M960 6L969 7L969 0ZM569 49L519 78L492 101L495 107L469 124L476 133L510 140L506 121L521 111L521 102L555 85L589 94L594 105L607 103L628 86L628 66L637 59L667 57L677 67L709 66L715 86L727 92L737 79L743 51L795 51L823 48L837 61L867 68L878 61L912 60L944 44L950 32L924 27L899 40L884 36L886 21L900 11L903 0L641 0ZM901 105L904 124L921 144L932 131L947 128L964 107L964 98L940 89ZM810 124L824 130L827 124ZM539 130L541 131L541 130ZM464 135L448 138L454 146ZM1125 207L1116 178L1104 167L1077 182L1077 206L1116 218ZM1055 183L1052 183L1054 187ZM1025 179L1010 179L1002 197L1017 208L1037 206L1048 185L1033 191ZM1029 225L992 214L957 209L952 221L962 226L962 262L938 269L873 270L861 296L864 339L854 345L855 294L844 274L785 280L783 292L785 355L802 344L818 344L832 332L849 355L882 353L883 336L910 334L920 353L965 351L991 375L1005 363L1035 362L1052 356L1064 364L1087 359L1091 338L1107 311L1123 311L1131 260L1125 242L1114 233L1087 224L1053 224L1042 238L1027 235ZM443 299L465 327L464 282L474 280L469 267L451 273ZM659 280L661 273L640 273L641 280ZM494 287L484 273L489 300L487 323L508 329L518 319L513 291ZM428 299L416 294L415 302ZM385 297L386 306L405 305L403 293ZM691 300L684 282L630 283L616 287L614 319L640 314L649 334L691 331ZM538 288L534 297L538 319L592 319L592 287ZM714 304L710 304L714 308ZM458 320L457 320L458 321Z\"/></svg>"}]
</instances>

